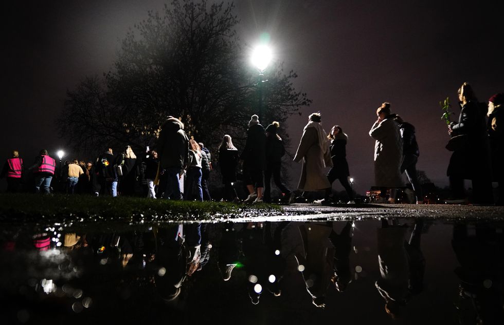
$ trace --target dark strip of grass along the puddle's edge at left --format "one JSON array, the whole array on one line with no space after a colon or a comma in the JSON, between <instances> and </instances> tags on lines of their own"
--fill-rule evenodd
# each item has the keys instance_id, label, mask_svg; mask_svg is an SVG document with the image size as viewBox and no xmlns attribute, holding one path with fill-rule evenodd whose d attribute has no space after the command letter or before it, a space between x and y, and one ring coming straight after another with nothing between
<instances>
[{"instance_id":1,"label":"dark strip of grass along the puddle's edge at left","mask_svg":"<svg viewBox=\"0 0 504 325\"><path fill-rule=\"evenodd\" d=\"M278 205L153 200L85 195L0 194L0 221L70 218L79 221L151 222L275 215Z\"/></svg>"}]
</instances>

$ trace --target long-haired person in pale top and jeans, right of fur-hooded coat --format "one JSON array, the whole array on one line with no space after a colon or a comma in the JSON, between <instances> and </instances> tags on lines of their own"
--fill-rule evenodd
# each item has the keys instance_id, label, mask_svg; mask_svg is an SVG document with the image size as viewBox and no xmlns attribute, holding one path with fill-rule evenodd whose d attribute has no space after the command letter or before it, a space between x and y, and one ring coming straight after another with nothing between
<instances>
[{"instance_id":1,"label":"long-haired person in pale top and jeans, right of fur-hooded coat","mask_svg":"<svg viewBox=\"0 0 504 325\"><path fill-rule=\"evenodd\" d=\"M203 201L203 189L201 188L201 160L202 154L200 145L194 139L189 140L189 160L187 161L187 171L184 178L184 200ZM196 195L193 195L196 188Z\"/></svg>"}]
</instances>

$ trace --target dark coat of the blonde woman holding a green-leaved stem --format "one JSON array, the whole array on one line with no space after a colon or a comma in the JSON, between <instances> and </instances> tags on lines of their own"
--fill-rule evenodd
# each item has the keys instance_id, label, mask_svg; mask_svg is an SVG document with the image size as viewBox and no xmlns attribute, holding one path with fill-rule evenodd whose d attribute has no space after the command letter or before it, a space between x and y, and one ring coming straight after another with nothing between
<instances>
[{"instance_id":1,"label":"dark coat of the blonde woman holding a green-leaved stem","mask_svg":"<svg viewBox=\"0 0 504 325\"><path fill-rule=\"evenodd\" d=\"M461 106L458 123L452 125L452 136L466 135L465 145L450 158L447 176L462 179L490 177L490 148L485 114L479 103L469 101Z\"/></svg>"}]
</instances>

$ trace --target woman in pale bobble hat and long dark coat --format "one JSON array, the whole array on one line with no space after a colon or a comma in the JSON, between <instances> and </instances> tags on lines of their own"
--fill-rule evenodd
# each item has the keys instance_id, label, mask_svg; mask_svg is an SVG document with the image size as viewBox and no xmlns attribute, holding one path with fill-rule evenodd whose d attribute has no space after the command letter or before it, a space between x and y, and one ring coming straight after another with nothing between
<instances>
[{"instance_id":1,"label":"woman in pale bobble hat and long dark coat","mask_svg":"<svg viewBox=\"0 0 504 325\"><path fill-rule=\"evenodd\" d=\"M266 164L265 142L264 127L259 124L259 117L254 114L248 122L247 142L240 157L243 160L243 181L249 192L245 203L262 202L263 172Z\"/></svg>"}]
</instances>

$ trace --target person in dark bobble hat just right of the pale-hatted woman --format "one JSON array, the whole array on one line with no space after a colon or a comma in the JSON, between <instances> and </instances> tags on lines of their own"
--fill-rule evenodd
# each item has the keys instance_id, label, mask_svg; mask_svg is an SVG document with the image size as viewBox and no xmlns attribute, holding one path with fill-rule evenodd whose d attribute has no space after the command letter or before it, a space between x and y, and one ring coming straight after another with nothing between
<instances>
[{"instance_id":1,"label":"person in dark bobble hat just right of the pale-hatted woman","mask_svg":"<svg viewBox=\"0 0 504 325\"><path fill-rule=\"evenodd\" d=\"M273 122L266 127L266 169L264 170L264 196L263 201L271 203L271 177L275 185L282 191L289 203L294 202L294 195L287 188L280 177L282 168L282 157L285 154L285 147L282 138L278 135L280 123Z\"/></svg>"}]
</instances>

